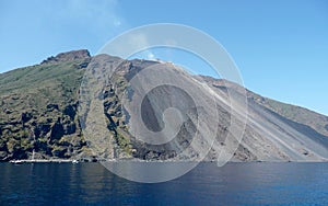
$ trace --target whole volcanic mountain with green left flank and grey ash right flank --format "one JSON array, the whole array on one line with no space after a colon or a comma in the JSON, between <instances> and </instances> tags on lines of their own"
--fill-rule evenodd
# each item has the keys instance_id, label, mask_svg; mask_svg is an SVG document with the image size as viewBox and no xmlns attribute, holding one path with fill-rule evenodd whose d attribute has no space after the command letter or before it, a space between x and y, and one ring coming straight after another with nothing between
<instances>
[{"instance_id":1,"label":"whole volcanic mountain with green left flank and grey ash right flank","mask_svg":"<svg viewBox=\"0 0 328 206\"><path fill-rule=\"evenodd\" d=\"M0 85L2 161L328 160L327 116L169 62L72 50L1 73Z\"/></svg>"}]
</instances>

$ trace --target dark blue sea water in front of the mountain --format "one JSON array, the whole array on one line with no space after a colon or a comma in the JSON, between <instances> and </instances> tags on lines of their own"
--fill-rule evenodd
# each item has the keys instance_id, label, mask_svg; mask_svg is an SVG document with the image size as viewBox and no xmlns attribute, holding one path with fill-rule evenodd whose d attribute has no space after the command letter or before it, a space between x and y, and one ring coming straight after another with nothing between
<instances>
[{"instance_id":1,"label":"dark blue sea water in front of the mountain","mask_svg":"<svg viewBox=\"0 0 328 206\"><path fill-rule=\"evenodd\" d=\"M153 184L99 163L0 163L0 205L328 205L328 163L200 163Z\"/></svg>"}]
</instances>

